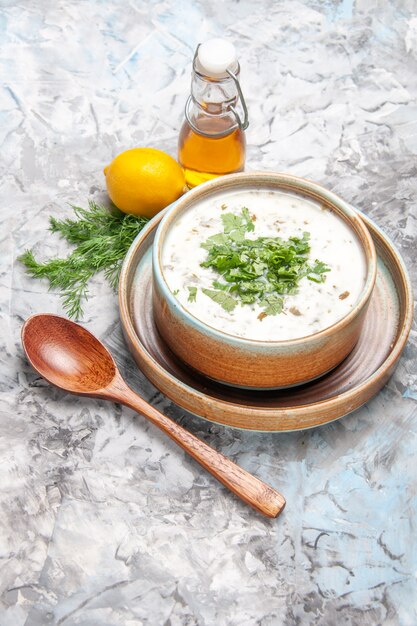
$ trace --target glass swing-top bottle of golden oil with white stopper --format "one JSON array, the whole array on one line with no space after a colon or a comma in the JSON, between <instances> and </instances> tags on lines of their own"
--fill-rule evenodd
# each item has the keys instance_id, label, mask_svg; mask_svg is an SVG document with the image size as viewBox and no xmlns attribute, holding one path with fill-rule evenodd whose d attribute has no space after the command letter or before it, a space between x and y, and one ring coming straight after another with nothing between
<instances>
[{"instance_id":1,"label":"glass swing-top bottle of golden oil with white stopper","mask_svg":"<svg viewBox=\"0 0 417 626\"><path fill-rule=\"evenodd\" d=\"M178 143L178 160L190 188L244 169L248 115L239 72L236 50L229 42L211 39L197 47ZM236 110L238 100L243 121Z\"/></svg>"}]
</instances>

